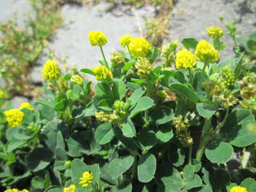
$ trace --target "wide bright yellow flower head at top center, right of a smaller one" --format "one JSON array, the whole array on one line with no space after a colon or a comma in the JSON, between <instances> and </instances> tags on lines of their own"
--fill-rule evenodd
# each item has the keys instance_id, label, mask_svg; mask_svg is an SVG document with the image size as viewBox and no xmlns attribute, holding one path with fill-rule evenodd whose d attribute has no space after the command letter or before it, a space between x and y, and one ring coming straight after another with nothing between
<instances>
[{"instance_id":1,"label":"wide bright yellow flower head at top center, right of a smaller one","mask_svg":"<svg viewBox=\"0 0 256 192\"><path fill-rule=\"evenodd\" d=\"M151 45L145 38L133 38L129 44L131 52L137 56L145 57L151 50Z\"/></svg>"}]
</instances>

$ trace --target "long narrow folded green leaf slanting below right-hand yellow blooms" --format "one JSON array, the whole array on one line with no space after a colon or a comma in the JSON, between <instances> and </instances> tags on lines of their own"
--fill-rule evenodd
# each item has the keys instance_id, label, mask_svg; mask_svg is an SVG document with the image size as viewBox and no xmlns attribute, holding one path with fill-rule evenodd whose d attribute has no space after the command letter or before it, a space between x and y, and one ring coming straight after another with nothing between
<instances>
[{"instance_id":1,"label":"long narrow folded green leaf slanting below right-hand yellow blooms","mask_svg":"<svg viewBox=\"0 0 256 192\"><path fill-rule=\"evenodd\" d=\"M194 103L198 102L195 91L189 89L185 84L172 83L169 85L169 87L170 87L170 90L180 95L183 95L184 97L188 98Z\"/></svg>"}]
</instances>

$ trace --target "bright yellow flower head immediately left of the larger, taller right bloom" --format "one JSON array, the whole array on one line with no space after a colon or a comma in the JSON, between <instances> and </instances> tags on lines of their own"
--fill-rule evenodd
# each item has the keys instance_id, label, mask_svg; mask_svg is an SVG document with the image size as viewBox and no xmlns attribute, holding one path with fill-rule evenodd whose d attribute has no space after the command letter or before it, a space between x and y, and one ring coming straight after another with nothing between
<instances>
[{"instance_id":1,"label":"bright yellow flower head immediately left of the larger, taller right bloom","mask_svg":"<svg viewBox=\"0 0 256 192\"><path fill-rule=\"evenodd\" d=\"M191 69L196 65L196 57L187 49L183 49L176 53L175 66L177 69Z\"/></svg>"}]
</instances>

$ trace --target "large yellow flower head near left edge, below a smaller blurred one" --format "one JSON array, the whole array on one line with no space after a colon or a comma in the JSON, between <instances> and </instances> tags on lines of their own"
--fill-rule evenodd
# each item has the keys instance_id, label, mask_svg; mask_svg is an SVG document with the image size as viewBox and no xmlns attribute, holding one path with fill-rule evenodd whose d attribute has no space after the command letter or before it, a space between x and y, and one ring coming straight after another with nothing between
<instances>
[{"instance_id":1,"label":"large yellow flower head near left edge, below a smaller blurred one","mask_svg":"<svg viewBox=\"0 0 256 192\"><path fill-rule=\"evenodd\" d=\"M21 125L25 114L19 109L10 109L4 111L4 115L6 116L8 124L12 127L15 127Z\"/></svg>"}]
</instances>

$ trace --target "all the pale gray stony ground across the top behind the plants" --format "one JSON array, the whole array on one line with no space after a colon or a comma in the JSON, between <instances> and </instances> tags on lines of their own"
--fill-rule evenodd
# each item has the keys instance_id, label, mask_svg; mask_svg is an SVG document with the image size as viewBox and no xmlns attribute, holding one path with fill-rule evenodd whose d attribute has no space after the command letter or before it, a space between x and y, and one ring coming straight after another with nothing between
<instances>
[{"instance_id":1,"label":"all the pale gray stony ground across the top behind the plants","mask_svg":"<svg viewBox=\"0 0 256 192\"><path fill-rule=\"evenodd\" d=\"M7 7L7 9L6 9ZM155 7L145 6L141 9L132 10L130 6L117 6L111 12L105 12L108 3L101 2L93 7L82 4L65 4L61 7L65 25L57 31L50 42L50 47L55 50L59 57L68 55L67 64L81 68L92 68L99 65L102 59L99 47L91 46L87 35L91 30L99 30L108 37L107 45L103 46L107 59L110 52L122 49L119 45L119 37L130 34L140 37L140 27L143 29L142 15L147 18L154 17ZM18 22L23 26L23 14L30 11L29 0L1 0L0 21L4 22L12 18L17 12ZM248 35L256 28L256 1L255 0L178 0L175 3L169 22L169 38L164 39L168 43L173 39L181 41L185 37L208 39L205 28L209 26L221 26L218 15L222 14L225 20L231 22L238 20L237 27L242 34ZM223 27L224 28L224 27ZM221 61L234 57L233 42L229 37L223 37L228 45L223 50ZM31 81L40 83L43 63L47 60L47 50L38 60L31 73ZM88 75L92 81L93 76ZM17 99L19 102L19 98ZM17 102L16 102L17 103Z\"/></svg>"}]
</instances>

